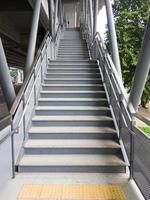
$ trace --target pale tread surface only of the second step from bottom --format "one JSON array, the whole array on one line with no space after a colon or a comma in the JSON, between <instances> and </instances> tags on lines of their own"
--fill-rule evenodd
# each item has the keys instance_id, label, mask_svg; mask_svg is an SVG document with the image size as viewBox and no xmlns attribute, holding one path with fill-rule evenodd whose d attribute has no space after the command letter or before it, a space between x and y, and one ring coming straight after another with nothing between
<instances>
[{"instance_id":1,"label":"pale tread surface only of the second step from bottom","mask_svg":"<svg viewBox=\"0 0 150 200\"><path fill-rule=\"evenodd\" d=\"M30 139L24 145L25 148L120 148L120 145L114 140L84 140L84 139L50 139L36 140Z\"/></svg>"}]
</instances>

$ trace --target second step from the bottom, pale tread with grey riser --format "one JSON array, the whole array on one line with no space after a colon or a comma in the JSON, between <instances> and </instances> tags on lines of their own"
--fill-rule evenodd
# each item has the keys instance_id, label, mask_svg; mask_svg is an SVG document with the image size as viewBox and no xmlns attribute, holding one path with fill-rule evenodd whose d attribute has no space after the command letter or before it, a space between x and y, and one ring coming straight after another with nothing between
<instances>
[{"instance_id":1,"label":"second step from the bottom, pale tread with grey riser","mask_svg":"<svg viewBox=\"0 0 150 200\"><path fill-rule=\"evenodd\" d=\"M25 154L120 154L114 140L31 140L25 145Z\"/></svg>"}]
</instances>

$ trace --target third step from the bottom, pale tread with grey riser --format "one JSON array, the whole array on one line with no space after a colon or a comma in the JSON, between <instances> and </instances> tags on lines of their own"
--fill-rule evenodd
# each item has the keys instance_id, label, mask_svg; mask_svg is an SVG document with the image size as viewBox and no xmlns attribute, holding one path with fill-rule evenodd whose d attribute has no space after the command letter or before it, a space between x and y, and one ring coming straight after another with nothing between
<instances>
[{"instance_id":1,"label":"third step from the bottom, pale tread with grey riser","mask_svg":"<svg viewBox=\"0 0 150 200\"><path fill-rule=\"evenodd\" d=\"M117 140L117 133L111 127L99 126L34 126L29 130L30 139L103 139Z\"/></svg>"}]
</instances>

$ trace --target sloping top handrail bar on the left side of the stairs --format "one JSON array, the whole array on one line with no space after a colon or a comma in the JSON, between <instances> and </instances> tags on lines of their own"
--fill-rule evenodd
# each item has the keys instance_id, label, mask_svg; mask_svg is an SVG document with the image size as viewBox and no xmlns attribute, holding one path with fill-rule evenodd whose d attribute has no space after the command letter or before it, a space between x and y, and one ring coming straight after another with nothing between
<instances>
[{"instance_id":1,"label":"sloping top handrail bar on the left side of the stairs","mask_svg":"<svg viewBox=\"0 0 150 200\"><path fill-rule=\"evenodd\" d=\"M11 110L10 110L11 117L14 116L14 114L15 114L17 108L18 108L18 105L19 105L19 103L20 103L20 101L22 99L22 96L23 96L23 94L24 94L24 92L26 90L26 87L27 87L27 85L28 85L28 83L29 83L29 81L30 81L30 79L32 77L32 74L33 74L35 66L36 66L36 62L38 61L38 58L40 57L41 50L43 49L44 44L45 44L48 36L49 36L49 33L47 32L45 37L44 37L44 39L43 39L43 41L42 41L42 43L41 43L41 45L40 45L40 48L39 48L38 52L36 54L36 57L35 57L34 62L32 64L31 70L27 74L27 76L26 76L26 78L24 80L24 83L23 83L22 87L20 88L19 93L18 93L18 95L17 95L17 97L16 97L16 99L15 99L15 101L14 101L12 107L11 107Z\"/></svg>"}]
</instances>

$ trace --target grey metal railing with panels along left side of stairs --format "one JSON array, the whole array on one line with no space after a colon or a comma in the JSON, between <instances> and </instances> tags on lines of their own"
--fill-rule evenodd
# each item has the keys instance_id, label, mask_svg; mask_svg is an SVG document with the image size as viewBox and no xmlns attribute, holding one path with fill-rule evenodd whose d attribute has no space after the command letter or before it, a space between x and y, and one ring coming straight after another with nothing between
<instances>
[{"instance_id":1,"label":"grey metal railing with panels along left side of stairs","mask_svg":"<svg viewBox=\"0 0 150 200\"><path fill-rule=\"evenodd\" d=\"M45 71L48 67L49 59L54 60L56 58L62 30L62 27L59 26L53 41L49 33L44 37L31 70L28 72L10 110L10 115L6 119L9 122L0 131L0 156L3 158L0 165L0 187L8 179L15 177L15 166L22 155L23 143L27 139L27 131L31 123L34 107L37 104ZM5 120L1 120L1 125L4 125L4 122Z\"/></svg>"}]
</instances>

